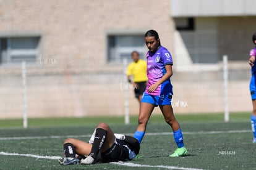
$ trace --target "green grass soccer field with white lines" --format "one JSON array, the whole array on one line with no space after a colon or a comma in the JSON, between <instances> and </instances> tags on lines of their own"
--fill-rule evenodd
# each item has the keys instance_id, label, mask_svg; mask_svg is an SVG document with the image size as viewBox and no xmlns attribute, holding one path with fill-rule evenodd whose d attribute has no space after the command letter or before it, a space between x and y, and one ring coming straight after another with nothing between
<instances>
[{"instance_id":1,"label":"green grass soccer field with white lines","mask_svg":"<svg viewBox=\"0 0 256 170\"><path fill-rule=\"evenodd\" d=\"M126 163L61 166L62 142L74 136L88 140L96 124L105 121L114 132L132 135L137 117L124 124L122 117L0 120L0 169L256 169L255 144L249 113L233 113L230 122L222 114L177 115L188 156L170 158L173 134L163 116L153 115L142 141L142 158Z\"/></svg>"}]
</instances>

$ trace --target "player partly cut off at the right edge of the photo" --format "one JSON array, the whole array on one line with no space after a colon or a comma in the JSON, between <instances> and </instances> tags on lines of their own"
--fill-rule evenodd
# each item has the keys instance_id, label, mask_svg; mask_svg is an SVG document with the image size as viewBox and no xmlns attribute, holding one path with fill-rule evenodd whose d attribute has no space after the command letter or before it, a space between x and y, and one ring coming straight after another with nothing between
<instances>
[{"instance_id":1,"label":"player partly cut off at the right edge of the photo","mask_svg":"<svg viewBox=\"0 0 256 170\"><path fill-rule=\"evenodd\" d=\"M252 41L256 45L256 33L252 35ZM255 65L255 57L256 57L256 47L250 50L250 58L249 64L252 67L252 78L250 79L250 95L252 97L252 116L250 121L252 123L252 132L254 134L253 143L256 144L256 65Z\"/></svg>"}]
</instances>

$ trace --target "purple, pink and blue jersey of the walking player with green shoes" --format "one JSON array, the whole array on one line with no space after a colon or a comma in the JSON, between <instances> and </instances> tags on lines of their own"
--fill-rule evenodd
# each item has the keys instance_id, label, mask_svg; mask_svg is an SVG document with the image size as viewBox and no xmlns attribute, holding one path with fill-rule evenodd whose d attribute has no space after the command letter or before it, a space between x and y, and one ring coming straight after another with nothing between
<instances>
[{"instance_id":1,"label":"purple, pink and blue jersey of the walking player with green shoes","mask_svg":"<svg viewBox=\"0 0 256 170\"><path fill-rule=\"evenodd\" d=\"M173 58L171 57L171 53L168 49L160 46L160 48L154 53L150 51L147 52L148 86L145 93L149 94L148 87L155 84L166 73L165 65L173 65ZM170 79L166 79L166 81L160 84L154 92L150 93L150 95L158 96L161 94L173 94L173 86Z\"/></svg>"}]
</instances>

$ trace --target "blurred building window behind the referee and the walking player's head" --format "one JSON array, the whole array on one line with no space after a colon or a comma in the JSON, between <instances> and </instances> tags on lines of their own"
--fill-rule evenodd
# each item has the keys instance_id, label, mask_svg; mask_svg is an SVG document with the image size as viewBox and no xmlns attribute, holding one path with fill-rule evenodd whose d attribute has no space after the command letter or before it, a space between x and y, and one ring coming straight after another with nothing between
<instances>
[{"instance_id":1,"label":"blurred building window behind the referee and the walking player's head","mask_svg":"<svg viewBox=\"0 0 256 170\"><path fill-rule=\"evenodd\" d=\"M122 63L124 58L128 62L132 59L132 51L138 51L140 59L145 58L145 41L143 35L108 35L108 62Z\"/></svg>"}]
</instances>

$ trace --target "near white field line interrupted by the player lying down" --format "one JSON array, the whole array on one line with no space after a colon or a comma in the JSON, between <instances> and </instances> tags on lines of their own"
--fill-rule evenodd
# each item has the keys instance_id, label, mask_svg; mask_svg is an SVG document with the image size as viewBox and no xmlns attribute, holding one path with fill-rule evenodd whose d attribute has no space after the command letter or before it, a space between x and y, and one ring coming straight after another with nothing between
<instances>
[{"instance_id":1,"label":"near white field line interrupted by the player lying down","mask_svg":"<svg viewBox=\"0 0 256 170\"><path fill-rule=\"evenodd\" d=\"M7 156L26 156L36 159L48 159L48 160L59 160L60 156L40 156L40 155L33 155L33 154L20 154L20 153L7 153L7 152L0 152L0 155L7 155ZM164 168L164 169L182 169L182 170L201 170L196 168L183 168L177 166L164 166L164 165L148 165L148 164L135 164L135 163L116 163L112 162L111 164L118 164L122 166L129 166L129 167L147 167L147 168Z\"/></svg>"}]
</instances>

